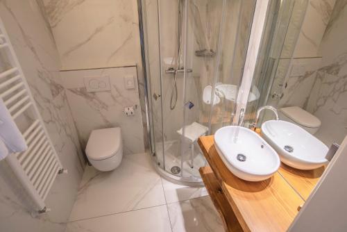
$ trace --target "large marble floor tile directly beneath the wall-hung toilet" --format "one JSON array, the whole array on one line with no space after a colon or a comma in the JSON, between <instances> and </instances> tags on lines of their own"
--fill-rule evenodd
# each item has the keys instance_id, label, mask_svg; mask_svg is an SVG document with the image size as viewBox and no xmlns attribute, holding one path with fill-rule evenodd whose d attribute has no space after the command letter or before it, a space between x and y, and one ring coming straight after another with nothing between
<instances>
[{"instance_id":1,"label":"large marble floor tile directly beneath the wall-hung toilet","mask_svg":"<svg viewBox=\"0 0 347 232\"><path fill-rule=\"evenodd\" d=\"M112 172L87 167L69 221L166 204L148 154L123 157Z\"/></svg>"}]
</instances>

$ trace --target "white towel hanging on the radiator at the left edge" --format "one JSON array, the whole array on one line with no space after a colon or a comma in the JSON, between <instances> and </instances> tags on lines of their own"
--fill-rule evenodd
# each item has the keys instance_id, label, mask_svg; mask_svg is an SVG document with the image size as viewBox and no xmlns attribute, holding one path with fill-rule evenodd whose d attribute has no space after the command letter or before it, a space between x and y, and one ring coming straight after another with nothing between
<instances>
[{"instance_id":1,"label":"white towel hanging on the radiator at the left edge","mask_svg":"<svg viewBox=\"0 0 347 232\"><path fill-rule=\"evenodd\" d=\"M10 153L28 149L22 133L17 128L2 99L0 99L0 140L0 160L6 158Z\"/></svg>"}]
</instances>

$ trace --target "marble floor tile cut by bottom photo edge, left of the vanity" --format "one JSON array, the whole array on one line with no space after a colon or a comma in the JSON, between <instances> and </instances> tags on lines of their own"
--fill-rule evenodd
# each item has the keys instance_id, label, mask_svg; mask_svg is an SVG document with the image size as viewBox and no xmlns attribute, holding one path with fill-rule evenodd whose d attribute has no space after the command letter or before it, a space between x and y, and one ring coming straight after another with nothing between
<instances>
[{"instance_id":1,"label":"marble floor tile cut by bottom photo edge, left of the vanity","mask_svg":"<svg viewBox=\"0 0 347 232\"><path fill-rule=\"evenodd\" d=\"M155 206L126 213L69 222L65 232L169 232L167 206Z\"/></svg>"}]
</instances>

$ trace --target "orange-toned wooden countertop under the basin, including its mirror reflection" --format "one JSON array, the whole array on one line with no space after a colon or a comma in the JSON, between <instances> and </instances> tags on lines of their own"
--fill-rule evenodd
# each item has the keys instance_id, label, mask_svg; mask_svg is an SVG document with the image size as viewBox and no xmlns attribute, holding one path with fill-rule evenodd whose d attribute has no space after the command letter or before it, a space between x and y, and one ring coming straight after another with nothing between
<instances>
[{"instance_id":1,"label":"orange-toned wooden countertop under the basin, including its mirror reflection","mask_svg":"<svg viewBox=\"0 0 347 232\"><path fill-rule=\"evenodd\" d=\"M243 181L223 164L214 147L213 135L199 138L198 144L244 231L287 231L323 172L296 174L291 167L282 166L265 181Z\"/></svg>"}]
</instances>

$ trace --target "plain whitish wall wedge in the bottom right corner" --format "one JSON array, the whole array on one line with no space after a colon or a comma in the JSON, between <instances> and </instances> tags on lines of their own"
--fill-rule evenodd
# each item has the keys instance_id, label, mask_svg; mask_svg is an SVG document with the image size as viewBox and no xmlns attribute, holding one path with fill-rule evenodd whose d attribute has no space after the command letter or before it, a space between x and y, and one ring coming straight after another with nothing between
<instances>
[{"instance_id":1,"label":"plain whitish wall wedge in the bottom right corner","mask_svg":"<svg viewBox=\"0 0 347 232\"><path fill-rule=\"evenodd\" d=\"M289 231L347 230L347 137Z\"/></svg>"}]
</instances>

